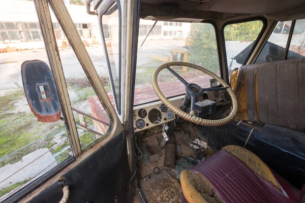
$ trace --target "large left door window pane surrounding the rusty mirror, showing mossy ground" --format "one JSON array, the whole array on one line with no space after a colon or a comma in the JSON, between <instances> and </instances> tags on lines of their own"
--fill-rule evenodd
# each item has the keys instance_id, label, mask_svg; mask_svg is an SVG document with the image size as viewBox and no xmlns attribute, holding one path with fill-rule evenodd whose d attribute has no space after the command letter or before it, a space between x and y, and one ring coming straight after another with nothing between
<instances>
[{"instance_id":1,"label":"large left door window pane surrounding the rusty mirror, showing mossy ground","mask_svg":"<svg viewBox=\"0 0 305 203\"><path fill-rule=\"evenodd\" d=\"M34 3L27 4L33 8L28 12L35 16ZM66 159L73 159L65 122L38 121L24 94L21 64L34 59L48 63L38 20L0 23L2 37L7 33L11 41L14 36L21 39L16 28L22 30L22 39L27 36L26 42L4 44L7 52L0 53L0 202Z\"/></svg>"}]
</instances>

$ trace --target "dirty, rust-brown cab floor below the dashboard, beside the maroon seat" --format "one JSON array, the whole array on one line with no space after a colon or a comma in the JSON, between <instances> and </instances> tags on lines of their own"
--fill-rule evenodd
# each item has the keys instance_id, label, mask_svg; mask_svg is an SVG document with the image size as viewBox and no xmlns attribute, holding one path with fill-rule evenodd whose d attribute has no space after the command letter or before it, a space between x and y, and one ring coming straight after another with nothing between
<instances>
[{"instance_id":1,"label":"dirty, rust-brown cab floor below the dashboard, beside the maroon seat","mask_svg":"<svg viewBox=\"0 0 305 203\"><path fill-rule=\"evenodd\" d=\"M186 139L185 134L189 133ZM190 140L198 138L193 128L184 128L183 131L175 130L173 136L176 145L180 145L181 153L176 154L176 160L184 157L188 159L194 154L194 150L189 145ZM160 149L159 141L162 139L162 132L152 134L148 138L141 140L147 145L148 151L160 153L160 159L157 161L143 163L143 160L137 160L138 183L149 203L173 203L181 202L182 190L179 180L176 178L175 170L164 166L165 147ZM178 156L178 157L177 157ZM151 178L141 180L153 172L154 167L159 167L161 173L151 175ZM134 202L141 202L138 195L134 195Z\"/></svg>"}]
</instances>

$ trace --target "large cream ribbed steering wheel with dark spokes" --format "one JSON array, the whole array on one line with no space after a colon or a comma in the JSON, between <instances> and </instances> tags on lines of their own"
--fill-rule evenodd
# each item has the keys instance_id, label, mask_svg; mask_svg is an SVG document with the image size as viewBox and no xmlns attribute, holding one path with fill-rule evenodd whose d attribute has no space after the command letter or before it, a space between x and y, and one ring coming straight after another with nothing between
<instances>
[{"instance_id":1,"label":"large cream ribbed steering wheel with dark spokes","mask_svg":"<svg viewBox=\"0 0 305 203\"><path fill-rule=\"evenodd\" d=\"M202 71L203 73L206 73L207 75L211 76L215 80L217 80L222 86L226 88L228 91L229 95L231 96L232 99L232 111L230 115L223 119L219 120L207 120L203 119L200 117L195 116L195 103L196 103L196 97L202 97L204 91L214 91L218 90L217 88L201 88L199 85L194 84L194 83L188 83L186 80L184 80L181 76L179 76L175 71L173 71L169 66L173 65L180 65L180 66L188 66L192 67L193 69L197 69L199 71ZM191 101L191 112L187 113L179 108L175 107L162 93L162 91L159 88L158 85L158 74L160 73L161 70L163 69L168 69L175 77L177 77L186 87L186 98ZM196 123L198 125L205 125L205 126L220 126L220 125L225 125L229 122L231 122L237 115L238 111L238 103L237 103L237 98L233 90L229 87L229 85L220 77L218 77L216 74L204 69L203 67L199 65L195 65L192 63L187 63L187 62L181 62L181 61L175 61L175 62L168 62L160 65L157 67L157 69L153 73L153 88L159 97L159 99L162 101L162 103L167 106L169 110L174 112L177 116L190 121L192 123Z\"/></svg>"}]
</instances>

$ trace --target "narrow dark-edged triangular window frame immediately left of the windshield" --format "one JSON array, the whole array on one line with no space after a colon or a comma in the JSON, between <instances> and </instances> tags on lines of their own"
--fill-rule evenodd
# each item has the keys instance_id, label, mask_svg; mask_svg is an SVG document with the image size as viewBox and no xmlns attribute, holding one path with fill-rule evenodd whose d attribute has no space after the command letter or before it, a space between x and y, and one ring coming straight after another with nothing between
<instances>
[{"instance_id":1,"label":"narrow dark-edged triangular window frame immediately left of the windshield","mask_svg":"<svg viewBox=\"0 0 305 203\"><path fill-rule=\"evenodd\" d=\"M121 33L122 33L122 30L121 30L121 24L122 24L122 20L121 20L121 6L120 6L120 2L115 0L113 1L113 4L110 5L110 7L106 10L105 9L105 12L103 12L102 15L100 15L99 17L99 23L101 25L103 25L102 23L102 19L103 19L103 16L104 14L109 11L109 9L114 5L116 4L117 5L117 10L118 10L118 100L119 100L119 103L117 101L117 98L116 98L116 92L115 92L115 87L114 87L114 82L113 82L113 77L112 77L112 71L111 71L111 66L110 66L110 60L109 60L109 55L108 55L108 51L107 51L107 47L106 47L106 40L105 40L105 37L104 37L104 30L103 30L103 26L100 26L101 27L101 37L102 37L102 41L103 41L103 48L104 48L104 52L105 52L105 57L106 57L106 61L107 61L107 66L108 66L108 72L109 72L109 79L110 79L110 84L111 84L111 91L112 91L112 95L113 95L113 100L114 100L114 104L115 104L115 107L116 107L116 110L117 110L117 114L118 115L121 115Z\"/></svg>"}]
</instances>

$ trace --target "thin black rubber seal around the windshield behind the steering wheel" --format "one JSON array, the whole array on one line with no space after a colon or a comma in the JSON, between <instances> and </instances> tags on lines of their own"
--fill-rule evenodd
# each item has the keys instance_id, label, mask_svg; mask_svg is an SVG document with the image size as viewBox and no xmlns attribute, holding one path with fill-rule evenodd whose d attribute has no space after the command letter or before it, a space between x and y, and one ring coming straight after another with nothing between
<instances>
[{"instance_id":1,"label":"thin black rubber seal around the windshield behind the steering wheel","mask_svg":"<svg viewBox=\"0 0 305 203\"><path fill-rule=\"evenodd\" d=\"M182 22L179 22L179 23L182 24ZM196 22L196 23L207 23L207 24L211 24L214 27L216 44L217 44L217 51L218 51L218 61L219 61L220 77L223 79L222 60L221 60L221 55L220 55L221 54L221 51L220 51L220 42L219 42L219 38L218 38L217 26L216 26L215 22L212 21L212 20L202 20L202 21ZM139 29L140 29L140 25L138 25L138 27L137 27L138 31L139 31ZM163 31L166 31L166 30L163 30ZM136 67L137 67L137 63L136 62L134 64L134 66L135 66L134 67L134 69L135 69L135 71L134 71L135 72L134 73L134 79L136 79L136 75L135 75L136 74ZM134 80L134 82L132 84L133 84L133 86L131 88L133 89L132 92L134 93L134 91L135 91L135 80ZM211 87L211 88L216 88L216 87L220 87L220 85L219 86L215 86L215 87ZM226 88L224 88L223 90L226 90ZM174 98L174 97L178 97L178 96L182 96L182 95L185 95L185 93L177 94L177 95L174 95L174 96L169 96L167 98ZM146 103L141 103L141 104L138 104L138 105L134 105L134 96L133 96L133 99L130 102L132 103L133 107L137 107L137 106L141 106L141 105L147 105L147 104L150 104L150 103L154 103L156 101L160 101L160 99L156 99L156 100L148 101Z\"/></svg>"}]
</instances>

